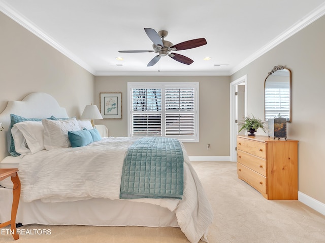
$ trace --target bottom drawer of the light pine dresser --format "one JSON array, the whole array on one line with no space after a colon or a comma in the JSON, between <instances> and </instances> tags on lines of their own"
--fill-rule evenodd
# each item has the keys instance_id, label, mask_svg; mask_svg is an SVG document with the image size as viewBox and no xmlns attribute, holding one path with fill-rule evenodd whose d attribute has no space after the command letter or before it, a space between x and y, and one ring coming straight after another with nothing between
<instances>
[{"instance_id":1,"label":"bottom drawer of the light pine dresser","mask_svg":"<svg viewBox=\"0 0 325 243\"><path fill-rule=\"evenodd\" d=\"M246 181L257 191L267 194L265 176L262 176L261 174L249 169L246 166L243 166L240 163L237 163L237 174L239 179Z\"/></svg>"}]
</instances>

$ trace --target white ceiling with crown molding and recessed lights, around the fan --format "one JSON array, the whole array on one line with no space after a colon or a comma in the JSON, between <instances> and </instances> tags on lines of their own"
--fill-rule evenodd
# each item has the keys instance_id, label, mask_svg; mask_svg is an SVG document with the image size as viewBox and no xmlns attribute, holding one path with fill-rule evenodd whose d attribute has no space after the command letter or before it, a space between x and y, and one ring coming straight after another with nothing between
<instances>
[{"instance_id":1,"label":"white ceiling with crown molding and recessed lights, around the fan","mask_svg":"<svg viewBox=\"0 0 325 243\"><path fill-rule=\"evenodd\" d=\"M0 0L0 11L94 75L231 75L324 15L325 1ZM152 50L145 27L207 45L175 52L191 65L166 56L147 67L155 53L118 52Z\"/></svg>"}]
</instances>

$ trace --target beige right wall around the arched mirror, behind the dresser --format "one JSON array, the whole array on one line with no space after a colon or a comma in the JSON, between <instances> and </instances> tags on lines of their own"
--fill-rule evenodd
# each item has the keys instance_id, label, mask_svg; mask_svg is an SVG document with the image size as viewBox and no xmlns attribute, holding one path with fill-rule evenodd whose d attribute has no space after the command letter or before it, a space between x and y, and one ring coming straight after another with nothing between
<instances>
[{"instance_id":1,"label":"beige right wall around the arched mirror, behind the dresser","mask_svg":"<svg viewBox=\"0 0 325 243\"><path fill-rule=\"evenodd\" d=\"M289 139L299 140L299 191L325 203L325 16L232 75L247 74L247 113L264 117L264 80L275 65L292 71Z\"/></svg>"}]
</instances>

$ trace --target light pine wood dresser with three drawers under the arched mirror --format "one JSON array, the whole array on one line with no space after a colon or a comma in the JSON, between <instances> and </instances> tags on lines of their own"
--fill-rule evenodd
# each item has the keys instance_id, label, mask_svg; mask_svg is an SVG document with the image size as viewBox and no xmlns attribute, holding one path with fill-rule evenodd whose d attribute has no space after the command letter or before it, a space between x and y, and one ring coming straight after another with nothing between
<instances>
[{"instance_id":1,"label":"light pine wood dresser with three drawers under the arched mirror","mask_svg":"<svg viewBox=\"0 0 325 243\"><path fill-rule=\"evenodd\" d=\"M237 136L237 174L267 199L298 200L298 141Z\"/></svg>"}]
</instances>

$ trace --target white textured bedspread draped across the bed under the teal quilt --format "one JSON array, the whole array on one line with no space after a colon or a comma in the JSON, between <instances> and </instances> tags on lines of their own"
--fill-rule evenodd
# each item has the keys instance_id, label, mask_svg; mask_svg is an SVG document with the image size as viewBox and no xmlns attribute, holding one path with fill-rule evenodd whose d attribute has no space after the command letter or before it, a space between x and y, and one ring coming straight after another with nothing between
<instances>
[{"instance_id":1,"label":"white textured bedspread draped across the bed under the teal quilt","mask_svg":"<svg viewBox=\"0 0 325 243\"><path fill-rule=\"evenodd\" d=\"M103 138L85 147L43 150L26 155L19 165L21 199L46 202L89 198L119 199L124 155L135 138ZM206 240L213 213L201 182L184 152L183 199L132 199L176 213L186 237Z\"/></svg>"}]
</instances>

